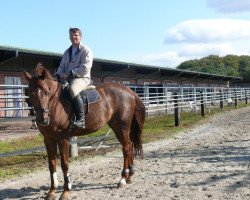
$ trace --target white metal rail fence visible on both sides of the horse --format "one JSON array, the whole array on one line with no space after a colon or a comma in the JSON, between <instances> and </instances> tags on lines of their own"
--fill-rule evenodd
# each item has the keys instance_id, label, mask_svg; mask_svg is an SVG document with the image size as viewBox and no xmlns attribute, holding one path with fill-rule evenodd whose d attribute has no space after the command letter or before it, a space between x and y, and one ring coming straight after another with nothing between
<instances>
[{"instance_id":1,"label":"white metal rail fence visible on both sides of the horse","mask_svg":"<svg viewBox=\"0 0 250 200\"><path fill-rule=\"evenodd\" d=\"M129 86L143 100L147 116L172 113L174 98L181 111L195 110L201 105L219 106L221 102L233 104L235 100L247 101L250 88L221 87L154 87ZM0 85L0 117L27 117L29 107L25 101L27 85Z\"/></svg>"}]
</instances>

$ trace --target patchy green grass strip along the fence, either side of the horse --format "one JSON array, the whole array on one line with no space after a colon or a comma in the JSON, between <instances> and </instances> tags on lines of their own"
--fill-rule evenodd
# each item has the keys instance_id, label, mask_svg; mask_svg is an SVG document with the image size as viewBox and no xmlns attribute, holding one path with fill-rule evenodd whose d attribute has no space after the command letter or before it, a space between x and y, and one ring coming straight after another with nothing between
<instances>
[{"instance_id":1,"label":"patchy green grass strip along the fence, either side of the horse","mask_svg":"<svg viewBox=\"0 0 250 200\"><path fill-rule=\"evenodd\" d=\"M143 142L148 143L155 140L167 139L173 137L176 133L190 129L197 123L206 122L210 117L215 114L222 113L228 110L234 110L242 107L250 106L250 104L239 104L237 108L234 106L225 106L223 110L220 108L211 109L210 113L206 110L205 117L200 113L182 112L180 114L180 126L176 127L174 122L174 115L155 116L146 119L144 125ZM80 138L89 138L104 135L109 130L105 126L96 133L81 136ZM117 141L117 140L116 140ZM38 135L35 137L28 137L12 141L0 141L0 153L11 152L16 150L23 150L43 146L43 136ZM105 149L101 151L84 151L79 152L79 157L71 159L71 162L78 159L85 159L94 155L103 155L108 151L114 150ZM57 162L60 165L60 162ZM13 176L22 176L26 173L34 172L41 168L47 168L47 155L46 153L35 153L30 155L13 156L13 157L0 157L0 180L8 179Z\"/></svg>"}]
</instances>

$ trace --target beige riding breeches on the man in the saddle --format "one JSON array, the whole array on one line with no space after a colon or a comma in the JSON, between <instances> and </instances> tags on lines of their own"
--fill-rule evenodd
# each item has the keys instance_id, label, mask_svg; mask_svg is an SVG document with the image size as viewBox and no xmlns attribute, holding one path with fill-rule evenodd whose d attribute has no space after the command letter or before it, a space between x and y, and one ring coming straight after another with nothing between
<instances>
[{"instance_id":1,"label":"beige riding breeches on the man in the saddle","mask_svg":"<svg viewBox=\"0 0 250 200\"><path fill-rule=\"evenodd\" d=\"M75 78L71 80L69 86L69 92L71 98L75 98L82 90L84 90L90 84L90 79L88 78Z\"/></svg>"}]
</instances>

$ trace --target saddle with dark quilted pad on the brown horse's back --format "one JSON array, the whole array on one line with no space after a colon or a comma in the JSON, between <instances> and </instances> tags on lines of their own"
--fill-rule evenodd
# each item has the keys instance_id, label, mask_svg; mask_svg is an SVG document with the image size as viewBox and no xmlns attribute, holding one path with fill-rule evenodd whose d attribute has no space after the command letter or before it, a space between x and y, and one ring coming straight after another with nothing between
<instances>
[{"instance_id":1,"label":"saddle with dark quilted pad on the brown horse's back","mask_svg":"<svg viewBox=\"0 0 250 200\"><path fill-rule=\"evenodd\" d=\"M87 114L89 112L89 105L90 104L96 103L96 102L102 100L101 95L95 89L94 85L87 86L79 94L80 94L81 98L83 99L84 105L86 106L85 114ZM62 95L63 95L64 99L66 99L68 102L72 103L72 98L71 98L70 93L69 93L69 84L67 84L63 87Z\"/></svg>"}]
</instances>

